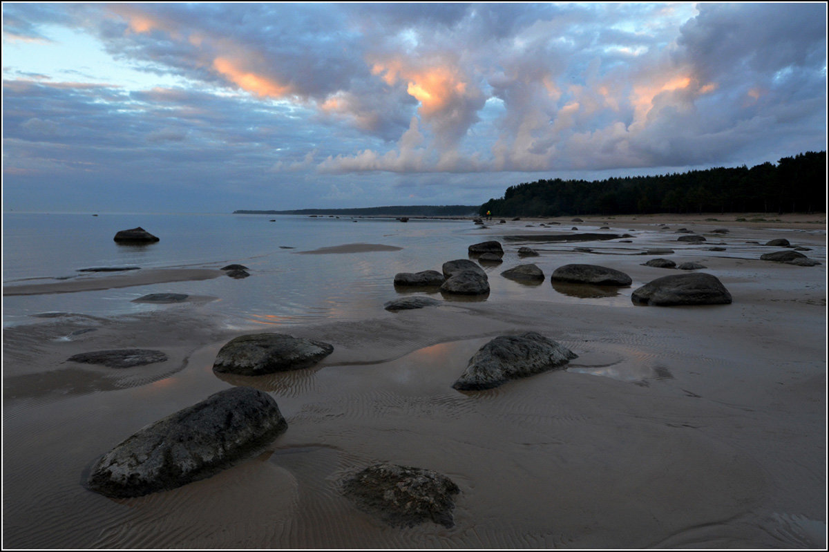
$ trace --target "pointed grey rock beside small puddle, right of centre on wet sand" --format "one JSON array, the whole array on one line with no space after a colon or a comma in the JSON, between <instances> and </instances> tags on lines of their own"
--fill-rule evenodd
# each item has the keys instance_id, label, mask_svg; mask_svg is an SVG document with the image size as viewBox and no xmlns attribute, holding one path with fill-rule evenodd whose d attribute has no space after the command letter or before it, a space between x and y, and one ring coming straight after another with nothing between
<instances>
[{"instance_id":1,"label":"pointed grey rock beside small puddle, right of centre on wet sand","mask_svg":"<svg viewBox=\"0 0 829 552\"><path fill-rule=\"evenodd\" d=\"M577 358L573 351L536 332L501 336L482 346L452 385L457 390L482 390L509 380L564 366Z\"/></svg>"}]
</instances>

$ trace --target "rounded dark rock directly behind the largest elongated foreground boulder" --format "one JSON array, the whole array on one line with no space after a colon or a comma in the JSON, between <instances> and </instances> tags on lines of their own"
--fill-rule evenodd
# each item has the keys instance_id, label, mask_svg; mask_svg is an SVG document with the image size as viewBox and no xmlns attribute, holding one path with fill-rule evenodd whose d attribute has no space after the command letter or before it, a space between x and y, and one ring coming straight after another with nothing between
<instances>
[{"instance_id":1,"label":"rounded dark rock directly behind the largest elongated foreground boulder","mask_svg":"<svg viewBox=\"0 0 829 552\"><path fill-rule=\"evenodd\" d=\"M322 341L283 333L254 333L225 343L216 355L213 370L238 375L263 375L308 368L334 351Z\"/></svg>"}]
</instances>

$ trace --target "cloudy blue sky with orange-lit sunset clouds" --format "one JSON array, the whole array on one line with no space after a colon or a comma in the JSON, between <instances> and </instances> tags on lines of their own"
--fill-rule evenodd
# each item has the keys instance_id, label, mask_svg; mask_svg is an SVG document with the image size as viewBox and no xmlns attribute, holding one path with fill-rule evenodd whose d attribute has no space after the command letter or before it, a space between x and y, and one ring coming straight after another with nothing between
<instances>
[{"instance_id":1,"label":"cloudy blue sky with orange-lit sunset clouds","mask_svg":"<svg viewBox=\"0 0 829 552\"><path fill-rule=\"evenodd\" d=\"M3 211L480 205L827 143L807 3L2 4Z\"/></svg>"}]
</instances>

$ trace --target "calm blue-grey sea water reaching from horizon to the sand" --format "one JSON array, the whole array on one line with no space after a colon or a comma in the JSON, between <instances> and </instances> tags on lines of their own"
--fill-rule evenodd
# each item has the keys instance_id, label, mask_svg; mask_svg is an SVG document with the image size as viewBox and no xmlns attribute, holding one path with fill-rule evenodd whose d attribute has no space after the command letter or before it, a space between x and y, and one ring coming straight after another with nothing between
<instances>
[{"instance_id":1,"label":"calm blue-grey sea water reaching from horizon to the sand","mask_svg":"<svg viewBox=\"0 0 829 552\"><path fill-rule=\"evenodd\" d=\"M139 247L113 241L117 231L135 226L161 241ZM238 280L222 276L95 292L4 297L4 326L36 322L32 315L41 312L115 316L170 307L131 303L147 293L215 298L208 308L230 324L356 319L366 317L366 312L382 312L383 303L400 297L393 285L398 272L440 270L444 261L467 258L468 245L492 239L470 220L402 223L391 218L219 214L8 213L3 217L2 235L4 284L112 275L78 272L100 266L221 268L240 263L251 274ZM402 249L298 253L356 243ZM487 269L493 294L503 288L502 299L528 293L525 286L492 277L508 268L507 260L501 267ZM553 293L548 287L544 287L545 294Z\"/></svg>"}]
</instances>

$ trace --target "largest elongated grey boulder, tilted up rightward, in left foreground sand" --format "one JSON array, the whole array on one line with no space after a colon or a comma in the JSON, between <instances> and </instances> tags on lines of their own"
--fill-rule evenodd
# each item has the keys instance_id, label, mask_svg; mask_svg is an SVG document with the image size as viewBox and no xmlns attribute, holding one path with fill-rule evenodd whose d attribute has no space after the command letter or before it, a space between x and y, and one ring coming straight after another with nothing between
<instances>
[{"instance_id":1,"label":"largest elongated grey boulder, tilted up rightward, in left foreground sand","mask_svg":"<svg viewBox=\"0 0 829 552\"><path fill-rule=\"evenodd\" d=\"M127 498L211 477L288 429L264 391L233 387L140 429L95 462L88 486Z\"/></svg>"}]
</instances>

